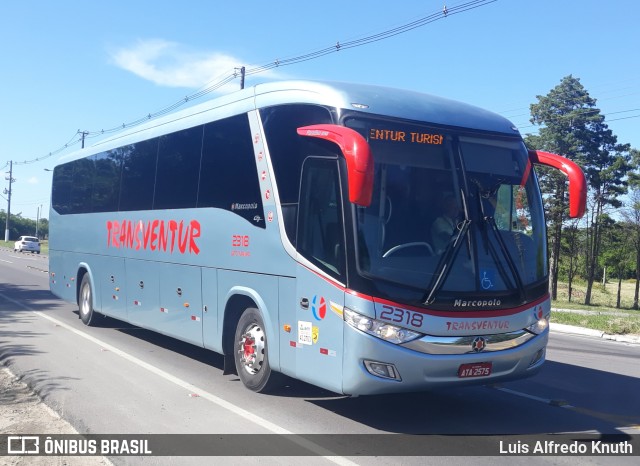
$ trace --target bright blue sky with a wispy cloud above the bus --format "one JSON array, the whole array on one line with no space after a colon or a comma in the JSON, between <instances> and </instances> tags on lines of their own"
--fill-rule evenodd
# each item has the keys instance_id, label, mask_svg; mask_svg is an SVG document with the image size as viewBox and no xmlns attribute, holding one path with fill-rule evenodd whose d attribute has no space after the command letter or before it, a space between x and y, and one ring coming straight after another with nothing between
<instances>
[{"instance_id":1,"label":"bright blue sky with a wispy cloud above the bus","mask_svg":"<svg viewBox=\"0 0 640 466\"><path fill-rule=\"evenodd\" d=\"M0 209L49 217L51 170L98 133L255 68L389 31L361 47L247 76L378 84L473 104L525 135L529 106L573 75L620 143L640 149L640 2L496 0L33 0L0 4ZM240 6L241 5L241 6ZM185 104L240 87L239 79ZM87 137L86 145L97 142ZM49 155L53 153L53 155Z\"/></svg>"}]
</instances>

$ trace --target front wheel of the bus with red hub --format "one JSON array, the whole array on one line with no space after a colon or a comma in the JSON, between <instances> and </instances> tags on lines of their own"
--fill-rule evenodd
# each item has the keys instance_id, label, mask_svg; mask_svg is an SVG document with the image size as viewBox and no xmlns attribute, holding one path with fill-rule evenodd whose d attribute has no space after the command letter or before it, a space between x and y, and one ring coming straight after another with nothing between
<instances>
[{"instance_id":1,"label":"front wheel of the bus with red hub","mask_svg":"<svg viewBox=\"0 0 640 466\"><path fill-rule=\"evenodd\" d=\"M264 393L272 390L279 374L269 365L267 335L258 309L250 307L240 316L233 343L236 371L249 390Z\"/></svg>"}]
</instances>

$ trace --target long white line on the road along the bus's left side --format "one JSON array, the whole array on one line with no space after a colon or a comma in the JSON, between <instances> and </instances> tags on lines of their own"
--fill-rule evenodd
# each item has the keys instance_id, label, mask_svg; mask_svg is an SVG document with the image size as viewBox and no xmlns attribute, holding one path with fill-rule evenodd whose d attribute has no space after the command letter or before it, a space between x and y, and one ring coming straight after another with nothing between
<instances>
[{"instance_id":1,"label":"long white line on the road along the bus's left side","mask_svg":"<svg viewBox=\"0 0 640 466\"><path fill-rule=\"evenodd\" d=\"M108 351L110 351L110 352L112 352L114 354L117 354L118 356L126 359L127 361L132 362L133 364L136 364L137 366L139 366L139 367L141 367L143 369L146 369L149 372L151 372L151 373L153 373L153 374L155 374L155 375L157 375L159 377L162 377L163 379L167 380L168 382L171 382L171 383L173 383L173 384L175 384L175 385L177 385L179 387L184 388L189 393L197 393L198 395L200 395L201 398L209 400L212 403L220 406L221 408L224 408L224 409L226 409L228 411L231 411L232 413L234 413L234 414L236 414L236 415L238 415L238 416L240 416L240 417L242 417L244 419L247 419L247 420L253 422L256 425L258 425L258 426L260 426L260 427L262 427L262 428L264 428L264 429L266 429L266 430L268 430L270 432L273 432L274 434L294 435L294 432L291 432L291 431L289 431L289 430L287 430L287 429L285 429L283 427L280 427L279 425L274 424L273 422L268 421L268 420L266 420L266 419L264 419L264 418L262 418L260 416L257 416L255 414L247 411L246 409L243 409L243 408L241 408L239 406L236 406L233 403L230 403L230 402L228 402L226 400L223 400L222 398L220 398L218 396L215 396L214 394L209 393L206 390L203 390L202 388L200 388L200 387L198 387L196 385L190 384L189 382L185 382L184 380L182 380L182 379L180 379L180 378L178 378L178 377L176 377L176 376L174 376L172 374L169 374L168 372L165 372L162 369L160 369L160 368L158 368L158 367L156 367L156 366L154 366L152 364L149 364L149 363L147 363L147 362L145 362L145 361L143 361L141 359L136 358L135 356L127 353L126 351L123 351L123 350L121 350L119 348L116 348L113 345L110 345L110 344L108 344L108 343L106 343L106 342L104 342L102 340L99 340L98 338L95 338L95 337L89 335L88 333L85 333L85 332L83 332L81 330L73 328L72 326L70 326L70 325L68 325L68 324L66 324L66 323L64 323L64 322L62 322L62 321L60 321L60 320L58 320L58 319L56 319L54 317L51 317L51 316L49 316L49 315L47 315L47 314L45 314L43 312L33 310L29 306L26 306L26 305L22 304L21 302L16 301L16 300L6 296L3 293L0 293L0 297L6 299L9 302L12 302L16 306L19 306L19 307L21 307L23 309L26 309L28 311L33 312L34 314L36 314L39 317L47 319L50 322L53 322L54 324L69 330L70 332L78 335L79 337L84 338L85 340L88 340L88 341L90 341L92 343L95 343L96 345L99 345L101 348L103 348L105 350L108 350ZM333 452L331 452L331 451L329 451L329 450L327 450L327 449L321 447L320 445L317 445L317 444L315 444L315 443L313 443L311 441L308 441L308 440L306 440L304 438L293 437L292 441L297 443L298 445L300 445L300 446L302 446L302 447L304 447L304 448L306 448L306 449L318 454L319 456L322 456L323 458L325 458L325 459L327 459L327 460L329 460L329 461L331 461L331 462L333 462L335 464L340 464L340 465L344 465L344 466L353 466L353 465L357 464L357 463L354 463L353 461L351 461L351 460L349 460L347 458L344 458L344 457L341 457L341 456L335 456L335 454Z\"/></svg>"}]
</instances>

